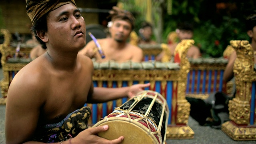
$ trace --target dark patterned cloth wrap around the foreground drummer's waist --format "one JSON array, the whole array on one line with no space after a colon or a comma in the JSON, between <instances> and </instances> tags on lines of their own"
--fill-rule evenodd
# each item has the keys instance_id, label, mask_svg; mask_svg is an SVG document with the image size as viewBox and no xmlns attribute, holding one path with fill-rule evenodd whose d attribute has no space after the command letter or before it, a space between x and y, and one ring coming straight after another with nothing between
<instances>
[{"instance_id":1,"label":"dark patterned cloth wrap around the foreground drummer's waist","mask_svg":"<svg viewBox=\"0 0 256 144\"><path fill-rule=\"evenodd\" d=\"M58 123L39 126L32 141L53 143L74 138L79 132L88 128L87 124L91 113L89 107L83 107L68 114Z\"/></svg>"}]
</instances>

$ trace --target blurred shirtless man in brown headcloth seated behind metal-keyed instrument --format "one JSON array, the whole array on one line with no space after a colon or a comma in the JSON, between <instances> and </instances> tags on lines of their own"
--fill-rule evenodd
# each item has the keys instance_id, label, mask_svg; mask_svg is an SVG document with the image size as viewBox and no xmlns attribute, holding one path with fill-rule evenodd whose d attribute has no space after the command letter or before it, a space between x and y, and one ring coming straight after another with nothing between
<instances>
[{"instance_id":1,"label":"blurred shirtless man in brown headcloth seated behind metal-keyed instrument","mask_svg":"<svg viewBox=\"0 0 256 144\"><path fill-rule=\"evenodd\" d=\"M112 24L109 27L111 37L98 39L106 57L104 59L101 58L100 54L96 51L96 44L94 41L90 41L82 50L80 50L79 54L89 56L90 58L96 58L96 61L98 62L109 60L114 60L120 63L128 60L141 62L143 59L142 50L138 46L126 42L134 28L134 16L132 13L117 7L113 7L110 14L112 16L110 22L110 24Z\"/></svg>"}]
</instances>

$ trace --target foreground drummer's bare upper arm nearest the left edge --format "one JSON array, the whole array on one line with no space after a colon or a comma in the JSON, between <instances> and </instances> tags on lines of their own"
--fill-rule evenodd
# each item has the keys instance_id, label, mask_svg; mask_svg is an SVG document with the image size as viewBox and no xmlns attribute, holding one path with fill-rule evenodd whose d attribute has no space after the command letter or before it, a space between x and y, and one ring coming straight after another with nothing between
<instances>
[{"instance_id":1,"label":"foreground drummer's bare upper arm nearest the left edge","mask_svg":"<svg viewBox=\"0 0 256 144\"><path fill-rule=\"evenodd\" d=\"M44 98L40 98L33 82L25 78L14 78L8 90L6 102L5 134L6 144L28 141L34 134L40 108Z\"/></svg>"}]
</instances>

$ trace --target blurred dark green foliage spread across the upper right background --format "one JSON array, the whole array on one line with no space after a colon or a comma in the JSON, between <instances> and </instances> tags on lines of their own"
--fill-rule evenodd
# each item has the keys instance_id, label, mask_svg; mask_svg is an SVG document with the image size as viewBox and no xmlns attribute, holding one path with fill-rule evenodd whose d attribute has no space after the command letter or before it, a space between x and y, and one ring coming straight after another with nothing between
<instances>
[{"instance_id":1,"label":"blurred dark green foliage spread across the upper right background","mask_svg":"<svg viewBox=\"0 0 256 144\"><path fill-rule=\"evenodd\" d=\"M135 12L138 32L140 24L145 20L143 12L145 6L136 6L135 0L119 0L124 3L124 9ZM253 1L253 0L250 0ZM152 0L157 3L157 0ZM153 7L156 7L155 3ZM218 2L211 0L172 0L172 15L166 12L166 4L163 9L162 42L167 43L169 32L175 31L179 22L192 22L194 24L195 45L200 48L203 57L220 57L230 40L249 40L244 26L244 10L250 7L250 2L238 2L229 0L229 4L236 4L236 10L217 10ZM156 13L154 18L159 18ZM158 22L156 20L156 22ZM155 24L157 25L157 23Z\"/></svg>"}]
</instances>

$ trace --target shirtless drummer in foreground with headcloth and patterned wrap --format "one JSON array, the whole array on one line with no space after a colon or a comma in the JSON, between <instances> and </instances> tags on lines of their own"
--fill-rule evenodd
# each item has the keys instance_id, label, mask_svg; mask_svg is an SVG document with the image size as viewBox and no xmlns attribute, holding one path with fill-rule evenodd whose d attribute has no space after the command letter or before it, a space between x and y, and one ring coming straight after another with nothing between
<instances>
[{"instance_id":1,"label":"shirtless drummer in foreground with headcloth and patterned wrap","mask_svg":"<svg viewBox=\"0 0 256 144\"><path fill-rule=\"evenodd\" d=\"M22 68L12 80L6 102L6 143L118 144L123 136L97 136L108 126L87 128L86 102L132 97L150 84L94 88L93 64L78 55L86 44L84 18L74 0L26 0L37 40L47 52ZM36 141L36 142L35 142ZM57 143L56 143L57 144Z\"/></svg>"}]
</instances>

